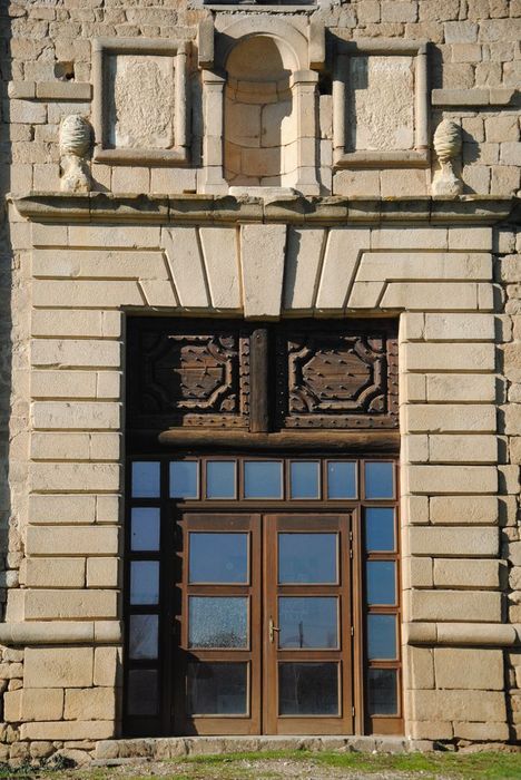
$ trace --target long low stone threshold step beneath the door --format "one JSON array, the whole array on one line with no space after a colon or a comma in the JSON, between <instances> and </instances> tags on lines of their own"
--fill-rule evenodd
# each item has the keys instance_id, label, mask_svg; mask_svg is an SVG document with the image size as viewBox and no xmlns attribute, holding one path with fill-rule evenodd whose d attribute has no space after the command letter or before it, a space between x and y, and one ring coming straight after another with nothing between
<instances>
[{"instance_id":1,"label":"long low stone threshold step beneath the door","mask_svg":"<svg viewBox=\"0 0 521 780\"><path fill-rule=\"evenodd\" d=\"M431 740L405 737L165 737L101 740L96 744L92 766L115 766L131 759L183 758L263 751L334 750L361 753L411 753L434 749Z\"/></svg>"}]
</instances>

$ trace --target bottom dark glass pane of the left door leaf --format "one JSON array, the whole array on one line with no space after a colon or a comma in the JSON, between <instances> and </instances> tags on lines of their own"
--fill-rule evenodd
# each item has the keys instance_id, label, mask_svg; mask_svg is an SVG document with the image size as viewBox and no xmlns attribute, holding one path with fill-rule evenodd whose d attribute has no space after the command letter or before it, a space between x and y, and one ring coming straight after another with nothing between
<instances>
[{"instance_id":1,"label":"bottom dark glass pane of the left door leaf","mask_svg":"<svg viewBox=\"0 0 521 780\"><path fill-rule=\"evenodd\" d=\"M189 663L187 710L198 715L248 713L246 663Z\"/></svg>"}]
</instances>

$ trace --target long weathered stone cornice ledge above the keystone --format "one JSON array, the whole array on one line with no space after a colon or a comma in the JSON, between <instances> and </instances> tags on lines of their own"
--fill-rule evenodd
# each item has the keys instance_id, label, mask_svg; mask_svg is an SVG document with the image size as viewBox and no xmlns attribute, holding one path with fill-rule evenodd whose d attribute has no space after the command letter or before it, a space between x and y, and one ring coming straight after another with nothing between
<instances>
[{"instance_id":1,"label":"long weathered stone cornice ledge above the keystone","mask_svg":"<svg viewBox=\"0 0 521 780\"><path fill-rule=\"evenodd\" d=\"M233 195L112 195L32 192L11 197L19 213L43 223L481 223L520 222L521 199L493 195L445 197L260 198Z\"/></svg>"}]
</instances>

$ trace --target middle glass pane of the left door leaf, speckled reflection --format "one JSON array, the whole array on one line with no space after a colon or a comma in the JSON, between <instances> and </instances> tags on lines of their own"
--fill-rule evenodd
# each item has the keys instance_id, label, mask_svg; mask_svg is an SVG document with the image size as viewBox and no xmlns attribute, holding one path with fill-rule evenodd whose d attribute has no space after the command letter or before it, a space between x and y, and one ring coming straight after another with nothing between
<instances>
[{"instance_id":1,"label":"middle glass pane of the left door leaf, speckled reflection","mask_svg":"<svg viewBox=\"0 0 521 780\"><path fill-rule=\"evenodd\" d=\"M248 646L248 599L243 596L190 596L190 647Z\"/></svg>"}]
</instances>

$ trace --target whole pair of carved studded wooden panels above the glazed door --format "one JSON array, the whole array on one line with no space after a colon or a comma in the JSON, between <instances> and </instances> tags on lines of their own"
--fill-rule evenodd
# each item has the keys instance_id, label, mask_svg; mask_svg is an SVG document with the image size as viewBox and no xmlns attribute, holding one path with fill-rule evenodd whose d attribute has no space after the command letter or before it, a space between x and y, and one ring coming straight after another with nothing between
<instances>
[{"instance_id":1,"label":"whole pair of carved studded wooden panels above the glazed door","mask_svg":"<svg viewBox=\"0 0 521 780\"><path fill-rule=\"evenodd\" d=\"M397 427L397 344L386 321L136 318L128 367L127 427L154 441L183 428L249 431L253 442L284 430Z\"/></svg>"}]
</instances>

